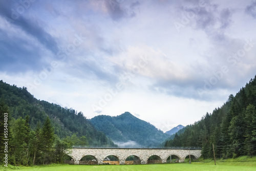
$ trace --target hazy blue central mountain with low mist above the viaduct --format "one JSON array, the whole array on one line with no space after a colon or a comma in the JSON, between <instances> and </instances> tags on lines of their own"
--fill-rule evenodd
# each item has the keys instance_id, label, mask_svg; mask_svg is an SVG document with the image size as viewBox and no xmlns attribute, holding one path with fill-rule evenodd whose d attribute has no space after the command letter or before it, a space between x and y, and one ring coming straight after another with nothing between
<instances>
[{"instance_id":1,"label":"hazy blue central mountain with low mist above the viaduct","mask_svg":"<svg viewBox=\"0 0 256 171\"><path fill-rule=\"evenodd\" d=\"M90 121L120 147L157 146L169 138L168 134L129 112L114 117L99 115Z\"/></svg>"}]
</instances>

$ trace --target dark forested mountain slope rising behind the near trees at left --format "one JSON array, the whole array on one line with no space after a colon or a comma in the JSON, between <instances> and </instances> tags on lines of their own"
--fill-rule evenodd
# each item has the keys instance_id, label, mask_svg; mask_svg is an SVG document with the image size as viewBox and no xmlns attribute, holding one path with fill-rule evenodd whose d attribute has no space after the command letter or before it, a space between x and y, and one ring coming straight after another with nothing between
<instances>
[{"instance_id":1,"label":"dark forested mountain slope rising behind the near trees at left","mask_svg":"<svg viewBox=\"0 0 256 171\"><path fill-rule=\"evenodd\" d=\"M1 80L0 99L9 107L9 114L12 118L25 119L26 115L29 115L32 130L35 130L38 122L44 123L49 116L54 133L61 139L77 134L78 137L85 136L87 144L90 145L114 145L112 140L95 129L82 112L77 113L72 108L62 108L58 104L37 100L25 87L10 86Z\"/></svg>"}]
</instances>

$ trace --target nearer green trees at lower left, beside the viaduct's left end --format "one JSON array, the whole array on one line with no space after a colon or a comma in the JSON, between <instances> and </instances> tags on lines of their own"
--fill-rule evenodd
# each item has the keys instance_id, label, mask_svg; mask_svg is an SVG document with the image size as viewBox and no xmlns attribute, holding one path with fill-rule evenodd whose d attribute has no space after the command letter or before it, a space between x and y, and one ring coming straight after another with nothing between
<instances>
[{"instance_id":1,"label":"nearer green trees at lower left, beside the viaduct's left end","mask_svg":"<svg viewBox=\"0 0 256 171\"><path fill-rule=\"evenodd\" d=\"M0 103L1 130L3 129L3 114L9 114L9 108L2 100ZM69 153L68 149L74 144L88 145L85 136L77 137L77 134L60 139L54 134L49 117L44 123L38 122L35 130L29 124L29 115L25 118L14 119L8 116L8 163L13 165L37 165L49 163L62 163ZM6 139L1 132L1 144ZM1 145L1 158L3 163L5 156Z\"/></svg>"}]
</instances>

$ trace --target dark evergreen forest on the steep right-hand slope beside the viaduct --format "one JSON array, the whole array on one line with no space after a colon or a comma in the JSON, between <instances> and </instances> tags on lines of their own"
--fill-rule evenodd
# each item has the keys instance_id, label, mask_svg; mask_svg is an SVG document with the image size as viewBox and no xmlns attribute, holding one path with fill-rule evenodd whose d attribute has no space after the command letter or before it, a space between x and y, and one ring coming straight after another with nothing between
<instances>
[{"instance_id":1,"label":"dark evergreen forest on the steep right-hand slope beside the viaduct","mask_svg":"<svg viewBox=\"0 0 256 171\"><path fill-rule=\"evenodd\" d=\"M212 113L186 126L165 146L200 146L203 158L236 158L256 154L256 76ZM213 145L214 144L214 148Z\"/></svg>"}]
</instances>

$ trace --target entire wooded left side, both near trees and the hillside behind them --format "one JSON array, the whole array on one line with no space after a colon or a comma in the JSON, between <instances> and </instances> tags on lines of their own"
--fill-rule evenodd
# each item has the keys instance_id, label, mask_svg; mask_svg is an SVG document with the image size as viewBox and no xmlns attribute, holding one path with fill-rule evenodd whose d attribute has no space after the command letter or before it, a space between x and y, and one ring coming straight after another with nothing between
<instances>
[{"instance_id":1,"label":"entire wooded left side, both near trees and the hillside behind them","mask_svg":"<svg viewBox=\"0 0 256 171\"><path fill-rule=\"evenodd\" d=\"M0 121L0 141L3 144L4 139L9 139L9 164L13 165L63 162L66 149L75 144L115 145L82 112L37 100L27 88L10 86L3 80L0 81ZM1 163L4 148L1 145Z\"/></svg>"}]
</instances>

